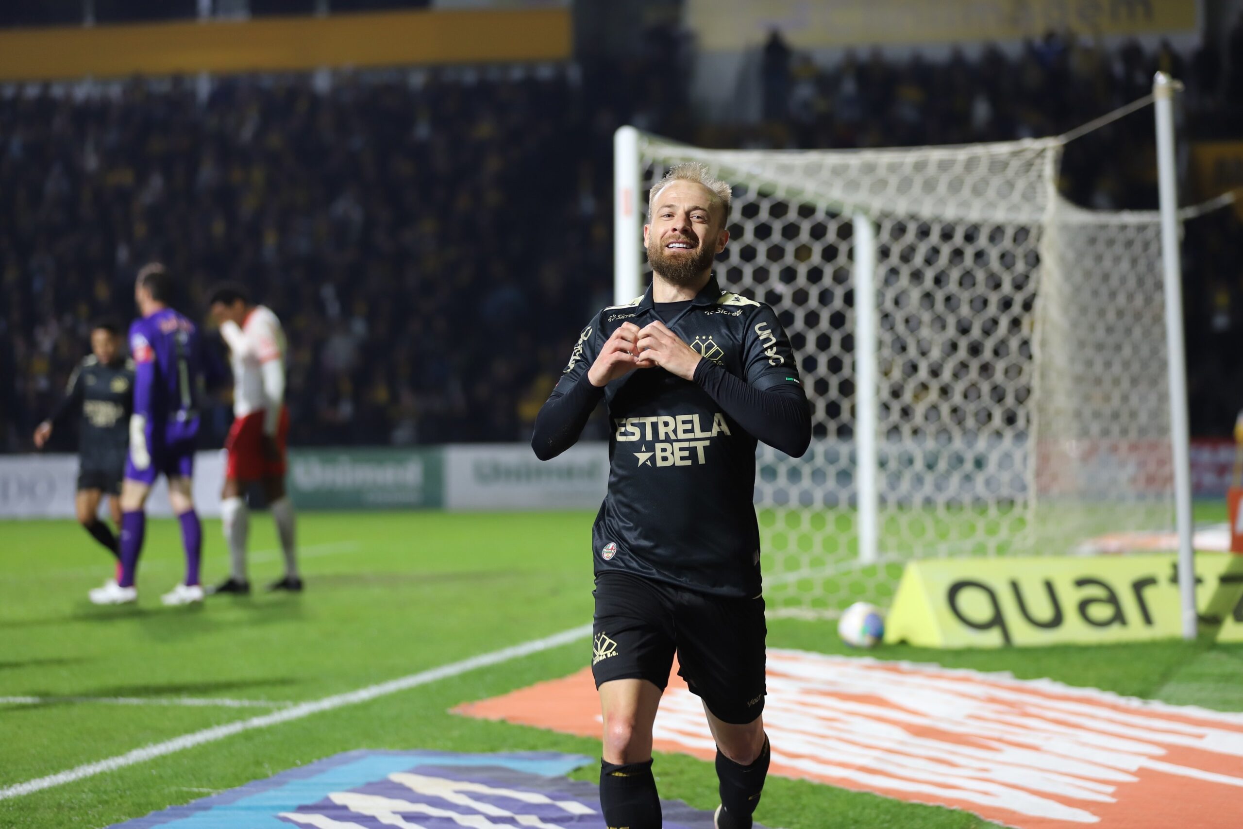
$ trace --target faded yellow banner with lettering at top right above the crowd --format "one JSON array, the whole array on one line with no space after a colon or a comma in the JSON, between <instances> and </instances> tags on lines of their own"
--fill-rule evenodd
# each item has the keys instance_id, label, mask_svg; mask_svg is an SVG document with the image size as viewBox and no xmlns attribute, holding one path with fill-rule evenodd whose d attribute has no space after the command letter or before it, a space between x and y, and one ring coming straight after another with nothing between
<instances>
[{"instance_id":1,"label":"faded yellow banner with lettering at top right above the crowd","mask_svg":"<svg viewBox=\"0 0 1243 829\"><path fill-rule=\"evenodd\" d=\"M1195 31L1198 9L1193 0L689 0L687 21L704 50L733 51L772 29L796 48Z\"/></svg>"}]
</instances>

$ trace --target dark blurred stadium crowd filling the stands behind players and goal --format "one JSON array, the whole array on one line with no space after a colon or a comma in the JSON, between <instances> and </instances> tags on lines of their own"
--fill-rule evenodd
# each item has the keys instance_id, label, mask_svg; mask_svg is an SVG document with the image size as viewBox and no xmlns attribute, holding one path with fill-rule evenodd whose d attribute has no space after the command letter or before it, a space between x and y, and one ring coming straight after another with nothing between
<instances>
[{"instance_id":1,"label":"dark blurred stadium crowd filling the stands behind players and goal","mask_svg":"<svg viewBox=\"0 0 1243 829\"><path fill-rule=\"evenodd\" d=\"M1231 42L1243 55L1243 22ZM1243 137L1243 60L1211 50L1050 36L1017 57L876 52L824 68L776 37L763 117L721 126L696 121L661 68L690 48L653 31L623 63L0 94L0 375L14 378L0 387L0 450L30 447L91 321L132 318L149 260L184 277L190 316L227 278L282 317L293 445L526 440L551 367L612 295L622 123L710 147L1008 139L1139 98L1160 67L1187 80L1185 138ZM1071 143L1068 195L1154 206L1151 143L1151 117ZM1231 211L1188 225L1196 434L1228 433L1241 401L1233 363L1206 355L1243 346L1241 239ZM229 416L213 409L209 441Z\"/></svg>"}]
</instances>

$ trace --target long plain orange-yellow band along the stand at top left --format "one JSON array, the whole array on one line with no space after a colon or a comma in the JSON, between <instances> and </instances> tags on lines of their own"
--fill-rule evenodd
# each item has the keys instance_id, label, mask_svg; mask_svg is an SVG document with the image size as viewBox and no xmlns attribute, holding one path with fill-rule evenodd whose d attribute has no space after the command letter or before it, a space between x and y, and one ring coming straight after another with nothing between
<instances>
[{"instance_id":1,"label":"long plain orange-yellow band along the stand at top left","mask_svg":"<svg viewBox=\"0 0 1243 829\"><path fill-rule=\"evenodd\" d=\"M0 80L559 61L568 9L393 11L0 31Z\"/></svg>"}]
</instances>

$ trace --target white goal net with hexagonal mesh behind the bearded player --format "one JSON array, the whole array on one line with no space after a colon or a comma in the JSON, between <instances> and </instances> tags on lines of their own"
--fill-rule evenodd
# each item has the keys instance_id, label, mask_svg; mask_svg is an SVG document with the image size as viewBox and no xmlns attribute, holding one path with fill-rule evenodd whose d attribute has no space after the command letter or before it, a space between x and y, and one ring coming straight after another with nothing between
<instances>
[{"instance_id":1,"label":"white goal net with hexagonal mesh behind the bearded player","mask_svg":"<svg viewBox=\"0 0 1243 829\"><path fill-rule=\"evenodd\" d=\"M888 605L912 558L1064 554L1173 527L1158 216L1064 201L1060 139L772 152L636 137L640 219L676 162L735 185L717 276L778 312L802 362L812 446L758 454L771 610ZM618 278L636 285L624 252Z\"/></svg>"}]
</instances>

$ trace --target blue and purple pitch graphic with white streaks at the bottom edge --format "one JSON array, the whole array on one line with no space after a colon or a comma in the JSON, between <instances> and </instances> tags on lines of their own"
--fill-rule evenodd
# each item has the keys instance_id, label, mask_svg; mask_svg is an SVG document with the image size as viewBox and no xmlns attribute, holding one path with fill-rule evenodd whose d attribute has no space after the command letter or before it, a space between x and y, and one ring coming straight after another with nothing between
<instances>
[{"instance_id":1,"label":"blue and purple pitch graphic with white streaks at the bottom edge","mask_svg":"<svg viewBox=\"0 0 1243 829\"><path fill-rule=\"evenodd\" d=\"M597 762L556 752L352 751L113 829L605 829L597 787L564 777ZM712 829L711 813L676 800L663 807L666 829Z\"/></svg>"}]
</instances>

